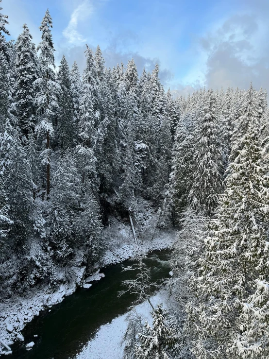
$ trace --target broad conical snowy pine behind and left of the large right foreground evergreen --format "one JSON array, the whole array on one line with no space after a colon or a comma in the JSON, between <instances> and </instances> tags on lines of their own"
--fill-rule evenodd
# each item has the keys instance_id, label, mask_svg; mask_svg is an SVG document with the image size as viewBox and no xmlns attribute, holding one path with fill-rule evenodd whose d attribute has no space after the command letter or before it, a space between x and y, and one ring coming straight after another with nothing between
<instances>
[{"instance_id":1,"label":"broad conical snowy pine behind and left of the large right foreground evergreen","mask_svg":"<svg viewBox=\"0 0 269 359\"><path fill-rule=\"evenodd\" d=\"M201 134L193 158L194 180L189 193L192 208L211 212L222 187L222 153L216 98L209 90L201 119Z\"/></svg>"}]
</instances>

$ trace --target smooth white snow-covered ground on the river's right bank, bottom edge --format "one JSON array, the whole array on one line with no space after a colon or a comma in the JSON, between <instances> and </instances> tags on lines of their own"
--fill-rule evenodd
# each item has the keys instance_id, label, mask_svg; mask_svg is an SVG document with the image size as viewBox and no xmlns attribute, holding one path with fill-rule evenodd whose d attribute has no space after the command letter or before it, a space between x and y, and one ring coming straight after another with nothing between
<instances>
[{"instance_id":1,"label":"smooth white snow-covered ground on the river's right bank, bottom edge","mask_svg":"<svg viewBox=\"0 0 269 359\"><path fill-rule=\"evenodd\" d=\"M163 303L167 307L167 295L165 291L158 292L151 297L153 306ZM138 314L152 324L151 306L147 301L134 307ZM124 345L121 344L127 328L127 316L130 312L118 316L110 323L101 325L95 337L88 342L76 359L122 359Z\"/></svg>"}]
</instances>

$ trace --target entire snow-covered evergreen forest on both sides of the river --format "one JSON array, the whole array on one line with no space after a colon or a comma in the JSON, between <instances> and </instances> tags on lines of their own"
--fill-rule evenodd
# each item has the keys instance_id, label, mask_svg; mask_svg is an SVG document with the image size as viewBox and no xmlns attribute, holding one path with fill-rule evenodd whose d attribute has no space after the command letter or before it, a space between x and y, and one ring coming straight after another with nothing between
<instances>
[{"instance_id":1,"label":"entire snow-covered evergreen forest on both sides of the river","mask_svg":"<svg viewBox=\"0 0 269 359\"><path fill-rule=\"evenodd\" d=\"M9 40L0 14L0 300L92 273L111 215L136 240L173 227L170 308L130 318L124 358L269 358L267 92L175 98L158 64L106 68L99 46L81 76L55 66L49 10L39 29L37 47L26 24ZM150 300L138 268L130 290Z\"/></svg>"}]
</instances>

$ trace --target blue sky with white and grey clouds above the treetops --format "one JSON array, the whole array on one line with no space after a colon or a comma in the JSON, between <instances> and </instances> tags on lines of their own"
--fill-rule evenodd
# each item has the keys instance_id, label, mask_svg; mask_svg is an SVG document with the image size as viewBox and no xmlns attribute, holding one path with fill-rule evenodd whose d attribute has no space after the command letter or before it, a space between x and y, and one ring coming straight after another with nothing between
<instances>
[{"instance_id":1,"label":"blue sky with white and grey clouds above the treetops","mask_svg":"<svg viewBox=\"0 0 269 359\"><path fill-rule=\"evenodd\" d=\"M84 67L85 43L106 66L134 57L138 71L160 65L166 89L200 86L269 90L269 0L3 0L11 38L24 23L37 44L47 8L56 62Z\"/></svg>"}]
</instances>

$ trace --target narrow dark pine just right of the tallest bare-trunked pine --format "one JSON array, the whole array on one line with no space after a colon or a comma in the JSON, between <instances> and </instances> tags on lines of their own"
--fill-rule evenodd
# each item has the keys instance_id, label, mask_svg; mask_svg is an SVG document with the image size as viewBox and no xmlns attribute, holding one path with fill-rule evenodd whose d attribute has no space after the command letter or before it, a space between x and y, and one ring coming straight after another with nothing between
<instances>
[{"instance_id":1,"label":"narrow dark pine just right of the tallest bare-trunked pine","mask_svg":"<svg viewBox=\"0 0 269 359\"><path fill-rule=\"evenodd\" d=\"M58 82L62 92L59 99L60 110L57 132L60 147L65 150L73 147L76 139L71 74L65 56L63 56L59 67Z\"/></svg>"}]
</instances>

